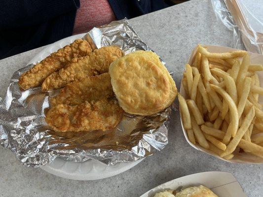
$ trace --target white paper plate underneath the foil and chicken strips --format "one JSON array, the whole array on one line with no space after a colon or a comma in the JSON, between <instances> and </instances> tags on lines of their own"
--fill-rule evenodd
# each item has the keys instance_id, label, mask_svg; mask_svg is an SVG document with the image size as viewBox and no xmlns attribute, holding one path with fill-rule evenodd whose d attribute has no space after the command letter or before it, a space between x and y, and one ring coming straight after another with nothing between
<instances>
[{"instance_id":1,"label":"white paper plate underneath the foil and chicken strips","mask_svg":"<svg viewBox=\"0 0 263 197\"><path fill-rule=\"evenodd\" d=\"M73 35L53 44L48 45L40 51L28 64L35 63L49 56L58 49L72 43L75 39L81 38L85 33ZM96 160L88 160L82 163L75 163L56 158L51 164L42 166L41 168L51 174L63 178L74 180L97 180L120 174L133 166L139 164L143 160L130 163L119 163L114 166L107 166Z\"/></svg>"}]
</instances>

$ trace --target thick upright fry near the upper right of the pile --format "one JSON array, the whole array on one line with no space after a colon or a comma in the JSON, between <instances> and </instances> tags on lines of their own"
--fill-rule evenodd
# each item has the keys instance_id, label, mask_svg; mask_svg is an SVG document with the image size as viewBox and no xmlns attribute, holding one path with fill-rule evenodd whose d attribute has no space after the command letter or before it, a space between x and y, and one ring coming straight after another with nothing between
<instances>
[{"instance_id":1,"label":"thick upright fry near the upper right of the pile","mask_svg":"<svg viewBox=\"0 0 263 197\"><path fill-rule=\"evenodd\" d=\"M243 90L243 82L244 79L246 77L246 73L248 71L248 66L250 63L250 56L249 55L245 55L243 58L243 61L241 63L238 75L237 75L237 79L236 79L236 87L237 87L237 95L238 98L241 97L242 95L242 90Z\"/></svg>"}]
</instances>

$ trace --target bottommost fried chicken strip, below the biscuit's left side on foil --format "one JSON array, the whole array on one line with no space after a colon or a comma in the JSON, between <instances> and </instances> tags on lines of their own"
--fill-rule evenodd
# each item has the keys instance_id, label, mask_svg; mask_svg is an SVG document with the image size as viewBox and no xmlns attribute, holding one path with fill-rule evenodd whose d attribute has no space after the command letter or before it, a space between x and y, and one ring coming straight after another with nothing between
<instances>
[{"instance_id":1,"label":"bottommost fried chicken strip, below the biscuit's left side on foil","mask_svg":"<svg viewBox=\"0 0 263 197\"><path fill-rule=\"evenodd\" d=\"M75 106L58 104L49 109L45 120L54 131L107 131L116 127L122 114L116 100L102 99Z\"/></svg>"}]
</instances>

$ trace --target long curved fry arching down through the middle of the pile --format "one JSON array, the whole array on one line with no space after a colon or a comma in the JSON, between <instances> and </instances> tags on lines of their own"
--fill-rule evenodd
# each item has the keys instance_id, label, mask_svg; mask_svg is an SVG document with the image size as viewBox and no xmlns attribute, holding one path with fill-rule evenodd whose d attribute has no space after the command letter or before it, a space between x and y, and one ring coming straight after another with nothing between
<instances>
[{"instance_id":1,"label":"long curved fry arching down through the middle of the pile","mask_svg":"<svg viewBox=\"0 0 263 197\"><path fill-rule=\"evenodd\" d=\"M213 84L210 84L211 88L213 88L216 92L218 92L228 103L228 107L231 114L231 130L232 130L232 136L235 136L235 133L238 129L238 112L237 107L235 105L234 100L223 90L222 88L215 86Z\"/></svg>"}]
</instances>

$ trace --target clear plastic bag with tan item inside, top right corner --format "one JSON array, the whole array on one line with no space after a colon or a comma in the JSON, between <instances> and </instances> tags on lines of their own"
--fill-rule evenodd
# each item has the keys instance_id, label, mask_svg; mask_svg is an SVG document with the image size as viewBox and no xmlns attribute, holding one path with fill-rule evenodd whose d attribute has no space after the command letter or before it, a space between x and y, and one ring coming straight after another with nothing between
<instances>
[{"instance_id":1,"label":"clear plastic bag with tan item inside, top right corner","mask_svg":"<svg viewBox=\"0 0 263 197\"><path fill-rule=\"evenodd\" d=\"M259 6L260 1L247 0L211 0L213 10L223 24L233 32L234 48L263 54L263 22L259 14L250 5ZM260 10L260 9L259 9ZM262 11L258 12L262 14ZM257 18L258 17L258 18Z\"/></svg>"}]
</instances>

